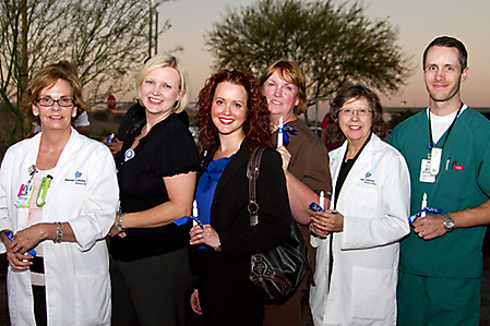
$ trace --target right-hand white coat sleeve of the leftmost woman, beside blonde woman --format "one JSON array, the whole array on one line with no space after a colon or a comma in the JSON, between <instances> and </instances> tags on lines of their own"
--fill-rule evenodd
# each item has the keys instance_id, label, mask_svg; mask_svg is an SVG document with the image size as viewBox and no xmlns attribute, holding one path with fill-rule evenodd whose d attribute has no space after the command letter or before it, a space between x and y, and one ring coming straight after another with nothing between
<instances>
[{"instance_id":1,"label":"right-hand white coat sleeve of the leftmost woman, beside blonde woman","mask_svg":"<svg viewBox=\"0 0 490 326\"><path fill-rule=\"evenodd\" d=\"M112 227L119 198L116 167L107 148L96 148L89 159L86 195L79 217L68 222L73 229L81 251L89 250L104 239Z\"/></svg>"}]
</instances>

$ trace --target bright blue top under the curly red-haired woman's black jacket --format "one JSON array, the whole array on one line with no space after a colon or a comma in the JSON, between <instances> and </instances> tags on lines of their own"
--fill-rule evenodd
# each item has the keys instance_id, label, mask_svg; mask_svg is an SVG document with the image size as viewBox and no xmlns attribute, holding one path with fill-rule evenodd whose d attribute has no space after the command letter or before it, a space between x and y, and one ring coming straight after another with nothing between
<instances>
[{"instance_id":1,"label":"bright blue top under the curly red-haired woman's black jacket","mask_svg":"<svg viewBox=\"0 0 490 326\"><path fill-rule=\"evenodd\" d=\"M203 225L208 225L211 221L211 205L213 204L216 185L234 155L212 160L199 180L198 189L195 191L195 201L198 202L198 216ZM198 247L207 249L208 246L198 245Z\"/></svg>"}]
</instances>

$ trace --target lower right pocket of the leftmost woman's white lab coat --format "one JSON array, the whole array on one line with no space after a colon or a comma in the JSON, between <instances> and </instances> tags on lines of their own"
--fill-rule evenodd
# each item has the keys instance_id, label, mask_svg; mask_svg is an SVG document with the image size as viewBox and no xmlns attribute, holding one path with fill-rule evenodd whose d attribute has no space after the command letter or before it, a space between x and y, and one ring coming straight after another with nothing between
<instances>
[{"instance_id":1,"label":"lower right pocket of the leftmost woman's white lab coat","mask_svg":"<svg viewBox=\"0 0 490 326\"><path fill-rule=\"evenodd\" d=\"M77 276L75 281L75 314L79 324L109 324L111 305L108 273Z\"/></svg>"}]
</instances>

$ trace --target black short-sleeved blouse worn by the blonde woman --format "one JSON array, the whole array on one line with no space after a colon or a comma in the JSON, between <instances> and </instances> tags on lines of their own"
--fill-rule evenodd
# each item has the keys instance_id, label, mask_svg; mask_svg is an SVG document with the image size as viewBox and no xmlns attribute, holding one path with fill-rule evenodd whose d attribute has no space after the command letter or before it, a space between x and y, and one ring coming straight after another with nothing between
<instances>
[{"instance_id":1,"label":"black short-sleeved blouse worn by the blonde woman","mask_svg":"<svg viewBox=\"0 0 490 326\"><path fill-rule=\"evenodd\" d=\"M134 157L124 161L126 150L143 126L128 135L116 155L122 213L142 212L168 202L163 178L201 168L194 140L177 114L155 124L134 148ZM134 261L171 252L189 244L191 225L128 229L126 238L111 239L110 253L116 259Z\"/></svg>"}]
</instances>

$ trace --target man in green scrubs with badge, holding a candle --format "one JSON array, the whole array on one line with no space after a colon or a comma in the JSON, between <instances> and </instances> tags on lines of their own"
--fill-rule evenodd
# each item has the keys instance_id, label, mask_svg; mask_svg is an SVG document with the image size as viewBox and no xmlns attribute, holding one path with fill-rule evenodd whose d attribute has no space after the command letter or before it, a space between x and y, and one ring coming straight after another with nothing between
<instances>
[{"instance_id":1,"label":"man in green scrubs with badge, holding a candle","mask_svg":"<svg viewBox=\"0 0 490 326\"><path fill-rule=\"evenodd\" d=\"M461 100L468 68L459 40L435 38L422 63L430 106L395 128L390 143L410 170L411 214L442 213L417 218L401 243L398 325L478 325L490 122Z\"/></svg>"}]
</instances>

